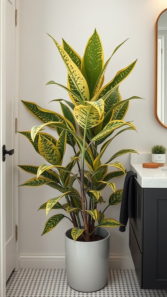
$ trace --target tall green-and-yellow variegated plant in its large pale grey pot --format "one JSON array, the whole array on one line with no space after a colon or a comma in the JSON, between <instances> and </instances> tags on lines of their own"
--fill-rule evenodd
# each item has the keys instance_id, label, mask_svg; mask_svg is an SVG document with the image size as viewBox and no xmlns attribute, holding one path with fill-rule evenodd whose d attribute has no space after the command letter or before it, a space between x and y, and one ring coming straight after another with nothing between
<instances>
[{"instance_id":1,"label":"tall green-and-yellow variegated plant in its large pale grey pot","mask_svg":"<svg viewBox=\"0 0 167 297\"><path fill-rule=\"evenodd\" d=\"M61 105L60 115L33 102L22 101L43 124L32 127L31 132L19 133L29 139L47 164L39 167L19 165L22 170L36 175L21 186L45 184L61 193L39 208L45 210L46 215L51 209L56 210L56 214L47 220L42 235L56 227L63 218L70 221L71 229L65 234L68 283L76 290L90 292L101 289L107 281L109 232L103 227L121 225L113 218L105 218L105 210L122 199L122 189L115 189L113 179L124 176L125 169L115 159L123 154L136 153L133 149L121 149L109 156L107 162L102 161L105 150L117 135L129 129L136 130L131 122L125 122L123 118L129 101L139 97L122 101L119 93L119 84L132 72L136 61L117 72L103 86L107 65L125 41L116 47L105 64L102 43L96 30L88 40L82 59L64 40L62 46L53 41L67 67L67 87L53 80L47 85L56 84L67 90L72 102L64 100L64 104L63 99L53 100ZM53 129L53 136L43 131L46 126ZM68 164L62 165L66 144L73 148L74 155ZM108 168L114 170L108 173ZM80 190L77 190L77 183ZM105 203L101 193L105 187L110 194L105 199L107 206L101 208ZM67 202L61 204L64 196ZM59 213L59 210L62 211Z\"/></svg>"}]
</instances>

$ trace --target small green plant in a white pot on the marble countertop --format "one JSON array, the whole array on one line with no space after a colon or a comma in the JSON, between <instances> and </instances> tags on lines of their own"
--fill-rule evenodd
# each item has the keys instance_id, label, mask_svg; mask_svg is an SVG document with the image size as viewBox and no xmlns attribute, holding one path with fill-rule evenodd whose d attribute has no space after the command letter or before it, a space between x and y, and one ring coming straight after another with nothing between
<instances>
[{"instance_id":1,"label":"small green plant in a white pot on the marble countertop","mask_svg":"<svg viewBox=\"0 0 167 297\"><path fill-rule=\"evenodd\" d=\"M159 166L163 166L166 160L166 147L156 144L151 148L152 162L158 163Z\"/></svg>"}]
</instances>

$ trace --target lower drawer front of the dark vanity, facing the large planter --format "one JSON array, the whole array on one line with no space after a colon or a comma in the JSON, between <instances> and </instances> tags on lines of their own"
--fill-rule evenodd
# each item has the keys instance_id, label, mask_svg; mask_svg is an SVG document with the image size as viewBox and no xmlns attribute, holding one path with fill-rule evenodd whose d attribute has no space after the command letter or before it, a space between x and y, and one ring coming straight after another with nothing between
<instances>
[{"instance_id":1,"label":"lower drawer front of the dark vanity, facing the large planter","mask_svg":"<svg viewBox=\"0 0 167 297\"><path fill-rule=\"evenodd\" d=\"M143 288L143 254L141 253L131 223L129 223L129 248L140 288Z\"/></svg>"}]
</instances>

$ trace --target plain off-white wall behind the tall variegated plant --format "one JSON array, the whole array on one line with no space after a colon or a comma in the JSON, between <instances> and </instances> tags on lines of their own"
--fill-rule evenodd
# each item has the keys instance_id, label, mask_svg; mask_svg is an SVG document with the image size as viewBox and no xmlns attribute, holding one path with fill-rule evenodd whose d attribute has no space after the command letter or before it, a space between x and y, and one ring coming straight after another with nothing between
<instances>
[{"instance_id":1,"label":"plain off-white wall behind the tall variegated plant","mask_svg":"<svg viewBox=\"0 0 167 297\"><path fill-rule=\"evenodd\" d=\"M87 40L96 28L103 43L105 61L117 45L129 38L110 61L105 74L105 83L110 81L117 71L138 59L131 75L121 83L120 93L122 100L134 95L145 100L130 101L125 118L126 121L133 121L137 133L126 131L119 135L108 148L106 155L112 155L123 148L150 152L152 145L156 143L167 146L167 129L157 122L154 115L155 21L166 6L165 0L21 0L18 11L20 100L36 102L43 108L60 112L59 104L55 102L48 104L48 102L58 98L68 99L67 92L59 86L45 86L49 80L55 80L64 85L67 80L65 65L53 41L45 32L52 35L59 43L63 38L82 56ZM20 103L18 130L29 131L36 124L39 124L39 121ZM71 147L68 148L64 164L68 162L70 155L73 155ZM127 170L130 169L130 155L120 157L119 161ZM20 135L19 164L41 165L42 163L42 157L34 151L29 141ZM19 170L20 184L30 178L31 175ZM122 188L123 182L124 178L116 180L116 188ZM55 192L48 186L36 189L19 188L22 267L33 265L38 267L38 264L34 264L33 261L28 261L28 259L32 260L32 255L34 259L44 259L42 257L46 254L53 258L56 256L57 258L54 259L58 260L60 255L64 257L64 232L72 227L69 220L62 220L50 233L40 236L46 217L44 211L37 212L37 209L49 198L56 197L58 193ZM108 198L109 195L109 188L106 187L104 197ZM106 217L111 216L119 220L119 209L120 205L108 208ZM59 213L59 211L56 212ZM51 215L54 213L55 211L50 212ZM125 233L120 233L118 228L112 228L110 232L111 254L117 255L117 258L113 259L120 260L117 266L112 267L133 268L128 257L130 254L128 228ZM30 264L27 264L28 262ZM64 267L62 262L56 263L55 267ZM48 267L50 267L49 264Z\"/></svg>"}]
</instances>

